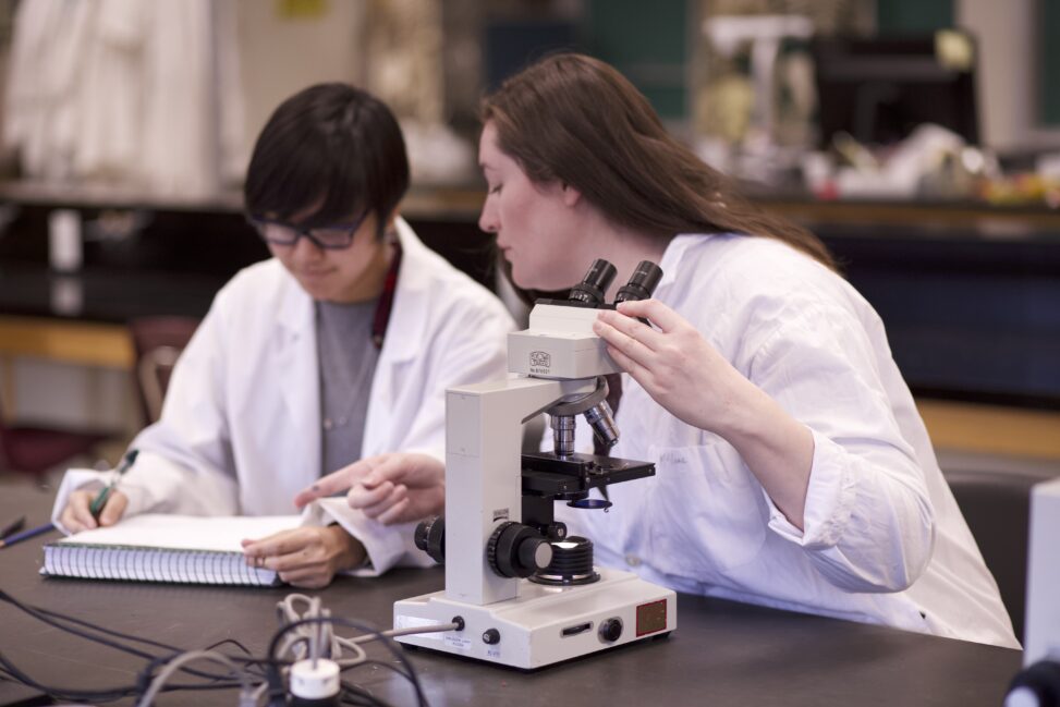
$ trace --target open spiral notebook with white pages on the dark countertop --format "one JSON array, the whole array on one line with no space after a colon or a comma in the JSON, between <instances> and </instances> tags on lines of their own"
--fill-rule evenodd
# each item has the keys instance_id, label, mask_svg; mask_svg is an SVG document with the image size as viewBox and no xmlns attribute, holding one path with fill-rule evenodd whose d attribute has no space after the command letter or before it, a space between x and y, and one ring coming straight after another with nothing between
<instances>
[{"instance_id":1,"label":"open spiral notebook with white pages on the dark countertop","mask_svg":"<svg viewBox=\"0 0 1060 707\"><path fill-rule=\"evenodd\" d=\"M40 574L87 580L275 586L279 575L247 566L240 544L297 527L297 515L135 515L45 545Z\"/></svg>"}]
</instances>

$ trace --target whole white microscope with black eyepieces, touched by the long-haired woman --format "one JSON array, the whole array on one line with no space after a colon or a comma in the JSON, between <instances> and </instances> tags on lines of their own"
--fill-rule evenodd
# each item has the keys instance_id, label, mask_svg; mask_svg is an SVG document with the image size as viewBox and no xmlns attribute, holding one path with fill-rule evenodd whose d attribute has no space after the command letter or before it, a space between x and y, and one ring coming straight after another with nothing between
<instances>
[{"instance_id":1,"label":"whole white microscope with black eyepieces, touched by the long-haired woman","mask_svg":"<svg viewBox=\"0 0 1060 707\"><path fill-rule=\"evenodd\" d=\"M619 368L593 333L597 313L649 297L662 271L642 261L605 304L614 275L596 260L569 300L537 301L529 328L509 334L516 376L446 391L446 514L416 528L416 546L446 565L446 588L395 602L393 625L456 630L401 643L536 669L677 627L672 590L594 566L592 540L569 537L553 514L557 501L604 512L608 485L655 475L647 462L574 451L580 414L605 447L618 441L604 376ZM553 451L522 453L523 423L543 412Z\"/></svg>"}]
</instances>

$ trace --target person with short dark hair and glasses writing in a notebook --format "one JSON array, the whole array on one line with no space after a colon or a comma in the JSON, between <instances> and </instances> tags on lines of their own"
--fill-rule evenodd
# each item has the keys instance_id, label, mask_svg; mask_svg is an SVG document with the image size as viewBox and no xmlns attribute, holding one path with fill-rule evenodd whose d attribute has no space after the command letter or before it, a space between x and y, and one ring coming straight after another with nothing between
<instances>
[{"instance_id":1,"label":"person with short dark hair and glasses writing in a notebook","mask_svg":"<svg viewBox=\"0 0 1060 707\"><path fill-rule=\"evenodd\" d=\"M247 562L302 587L423 563L407 524L424 493L443 492L444 391L502 377L514 322L400 218L407 187L404 142L379 100L322 84L284 101L244 187L272 258L218 293L98 520L89 505L106 478L86 470L66 474L54 520L78 532L144 512L288 514L298 491L346 470L362 508L321 499L310 525L248 538ZM398 471L402 483L388 482Z\"/></svg>"}]
</instances>

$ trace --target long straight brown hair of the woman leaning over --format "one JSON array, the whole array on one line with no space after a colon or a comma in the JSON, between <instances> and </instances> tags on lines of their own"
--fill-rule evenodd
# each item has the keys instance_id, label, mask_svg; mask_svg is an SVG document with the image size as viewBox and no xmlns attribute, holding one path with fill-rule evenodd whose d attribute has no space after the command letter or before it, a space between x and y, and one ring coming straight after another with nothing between
<instances>
[{"instance_id":1,"label":"long straight brown hair of the woman leaning over","mask_svg":"<svg viewBox=\"0 0 1060 707\"><path fill-rule=\"evenodd\" d=\"M575 53L546 57L482 105L498 146L534 182L578 190L617 225L669 240L743 233L783 241L834 269L824 243L740 197L667 133L648 100L612 66Z\"/></svg>"}]
</instances>

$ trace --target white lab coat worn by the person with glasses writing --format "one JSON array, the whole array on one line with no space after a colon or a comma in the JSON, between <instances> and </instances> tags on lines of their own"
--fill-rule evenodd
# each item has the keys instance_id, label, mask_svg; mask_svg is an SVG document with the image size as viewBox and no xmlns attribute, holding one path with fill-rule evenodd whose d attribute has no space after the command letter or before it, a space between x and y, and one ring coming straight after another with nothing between
<instances>
[{"instance_id":1,"label":"white lab coat worn by the person with glasses writing","mask_svg":"<svg viewBox=\"0 0 1060 707\"><path fill-rule=\"evenodd\" d=\"M429 251L398 220L402 260L364 430L363 455L423 452L444 460L446 389L503 377L508 310ZM313 300L276 259L251 266L218 293L184 350L161 419L133 442L121 482L127 514L294 513L294 496L320 476L320 381ZM106 477L68 474L53 519L73 488ZM337 521L385 572L429 564L413 524L383 527L326 499L310 523ZM406 550L409 553L406 554Z\"/></svg>"}]
</instances>

